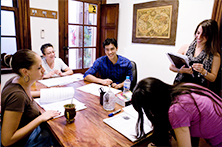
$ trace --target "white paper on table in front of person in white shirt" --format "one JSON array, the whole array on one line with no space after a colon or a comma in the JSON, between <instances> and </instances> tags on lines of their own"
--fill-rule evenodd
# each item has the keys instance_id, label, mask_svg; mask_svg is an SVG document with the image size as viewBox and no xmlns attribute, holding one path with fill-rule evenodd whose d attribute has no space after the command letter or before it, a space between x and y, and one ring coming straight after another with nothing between
<instances>
[{"instance_id":1,"label":"white paper on table in front of person in white shirt","mask_svg":"<svg viewBox=\"0 0 222 147\"><path fill-rule=\"evenodd\" d=\"M65 77L50 78L50 79L44 79L44 80L38 80L38 81L46 85L47 87L52 87L52 86L62 86L62 85L70 84L79 80L83 80L83 74L81 73L76 73L76 74L65 76Z\"/></svg>"}]
</instances>

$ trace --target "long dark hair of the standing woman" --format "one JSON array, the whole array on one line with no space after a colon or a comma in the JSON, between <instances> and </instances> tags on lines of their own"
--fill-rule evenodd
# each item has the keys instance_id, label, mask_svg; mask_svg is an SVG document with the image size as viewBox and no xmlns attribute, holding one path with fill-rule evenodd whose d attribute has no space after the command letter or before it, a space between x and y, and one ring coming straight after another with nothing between
<instances>
[{"instance_id":1,"label":"long dark hair of the standing woman","mask_svg":"<svg viewBox=\"0 0 222 147\"><path fill-rule=\"evenodd\" d=\"M199 26L201 26L203 29L201 36L204 36L207 39L205 47L206 53L211 53L213 55L220 53L220 40L217 22L212 19L207 19L200 22L194 32L194 35L197 33Z\"/></svg>"}]
</instances>

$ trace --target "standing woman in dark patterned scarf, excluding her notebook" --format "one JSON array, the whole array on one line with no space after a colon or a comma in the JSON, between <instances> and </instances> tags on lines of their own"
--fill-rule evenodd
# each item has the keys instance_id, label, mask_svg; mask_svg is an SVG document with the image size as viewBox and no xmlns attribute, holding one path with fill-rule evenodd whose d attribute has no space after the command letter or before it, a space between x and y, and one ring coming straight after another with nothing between
<instances>
[{"instance_id":1,"label":"standing woman in dark patterned scarf, excluding her notebook","mask_svg":"<svg viewBox=\"0 0 222 147\"><path fill-rule=\"evenodd\" d=\"M188 56L190 68L176 68L171 64L170 70L178 73L174 83L192 82L207 87L207 81L216 80L221 63L217 22L212 19L202 21L194 35L194 41L178 51Z\"/></svg>"}]
</instances>

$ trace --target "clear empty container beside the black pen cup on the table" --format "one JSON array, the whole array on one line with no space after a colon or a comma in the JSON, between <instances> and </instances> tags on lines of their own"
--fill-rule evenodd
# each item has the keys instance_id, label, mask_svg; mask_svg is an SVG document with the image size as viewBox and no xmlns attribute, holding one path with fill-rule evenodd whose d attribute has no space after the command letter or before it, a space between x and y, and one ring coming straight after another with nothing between
<instances>
[{"instance_id":1,"label":"clear empty container beside the black pen cup on the table","mask_svg":"<svg viewBox=\"0 0 222 147\"><path fill-rule=\"evenodd\" d=\"M109 90L103 95L103 108L106 111L112 111L115 108L115 94L111 91L110 86Z\"/></svg>"}]
</instances>

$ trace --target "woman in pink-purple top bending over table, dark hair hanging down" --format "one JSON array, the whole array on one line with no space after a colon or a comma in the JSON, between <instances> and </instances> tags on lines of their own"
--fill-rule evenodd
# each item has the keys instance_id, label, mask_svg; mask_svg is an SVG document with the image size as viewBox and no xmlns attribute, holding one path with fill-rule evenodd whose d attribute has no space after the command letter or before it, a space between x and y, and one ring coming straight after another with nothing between
<instances>
[{"instance_id":1,"label":"woman in pink-purple top bending over table, dark hair hanging down","mask_svg":"<svg viewBox=\"0 0 222 147\"><path fill-rule=\"evenodd\" d=\"M148 146L169 146L172 136L179 147L191 147L191 137L222 146L222 99L205 87L194 83L168 85L145 78L135 86L132 104L138 112L137 137L144 135L143 112L154 127Z\"/></svg>"}]
</instances>

